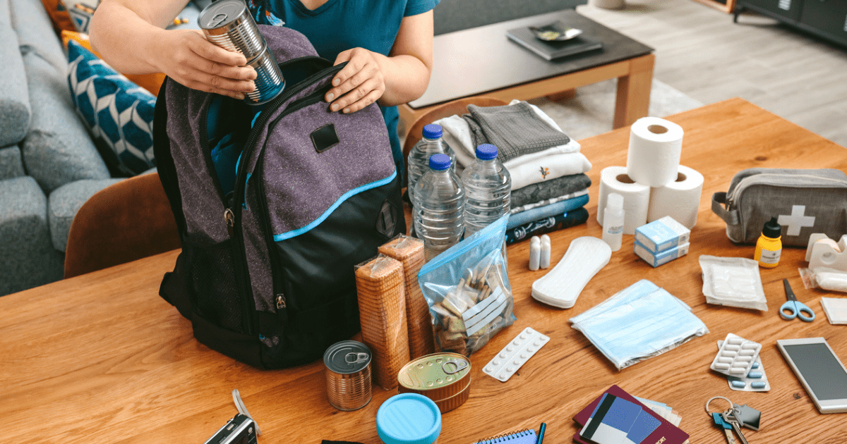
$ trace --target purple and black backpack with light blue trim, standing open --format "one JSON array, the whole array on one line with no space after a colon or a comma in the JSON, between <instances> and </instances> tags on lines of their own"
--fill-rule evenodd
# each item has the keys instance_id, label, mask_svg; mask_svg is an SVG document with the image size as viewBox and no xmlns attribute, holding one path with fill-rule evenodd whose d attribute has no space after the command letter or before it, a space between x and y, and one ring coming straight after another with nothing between
<instances>
[{"instance_id":1,"label":"purple and black backpack with light blue trim, standing open","mask_svg":"<svg viewBox=\"0 0 847 444\"><path fill-rule=\"evenodd\" d=\"M167 80L154 151L182 252L159 294L200 343L263 369L319 359L359 331L353 266L405 233L379 107L330 112L343 67L259 25L285 76L262 111Z\"/></svg>"}]
</instances>

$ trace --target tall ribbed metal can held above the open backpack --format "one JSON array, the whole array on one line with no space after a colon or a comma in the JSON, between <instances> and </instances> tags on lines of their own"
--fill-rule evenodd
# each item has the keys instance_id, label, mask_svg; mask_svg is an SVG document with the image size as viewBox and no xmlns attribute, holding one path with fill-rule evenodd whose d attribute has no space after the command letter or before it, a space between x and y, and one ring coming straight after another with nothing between
<instances>
[{"instance_id":1,"label":"tall ribbed metal can held above the open backpack","mask_svg":"<svg viewBox=\"0 0 847 444\"><path fill-rule=\"evenodd\" d=\"M247 6L241 0L221 0L204 8L197 18L208 41L228 51L241 52L247 65L256 69L256 89L246 93L244 101L261 105L278 96L285 79L274 53L259 33Z\"/></svg>"}]
</instances>

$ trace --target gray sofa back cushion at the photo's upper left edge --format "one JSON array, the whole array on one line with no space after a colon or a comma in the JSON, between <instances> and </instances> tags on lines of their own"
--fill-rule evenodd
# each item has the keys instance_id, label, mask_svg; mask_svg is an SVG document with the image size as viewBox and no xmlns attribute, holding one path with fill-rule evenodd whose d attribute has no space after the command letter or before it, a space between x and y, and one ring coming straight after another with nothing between
<instances>
[{"instance_id":1,"label":"gray sofa back cushion at the photo's upper left edge","mask_svg":"<svg viewBox=\"0 0 847 444\"><path fill-rule=\"evenodd\" d=\"M30 128L30 95L26 90L24 61L20 57L18 35L9 17L8 0L0 0L0 146L24 140Z\"/></svg>"}]
</instances>

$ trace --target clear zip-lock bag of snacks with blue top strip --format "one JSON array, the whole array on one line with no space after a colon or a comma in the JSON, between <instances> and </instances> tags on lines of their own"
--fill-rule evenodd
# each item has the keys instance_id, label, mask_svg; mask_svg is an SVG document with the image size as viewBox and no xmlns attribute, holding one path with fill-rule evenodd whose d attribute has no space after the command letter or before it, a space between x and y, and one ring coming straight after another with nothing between
<instances>
[{"instance_id":1,"label":"clear zip-lock bag of snacks with blue top strip","mask_svg":"<svg viewBox=\"0 0 847 444\"><path fill-rule=\"evenodd\" d=\"M418 282L435 325L435 348L469 356L515 321L503 256L508 216L429 261Z\"/></svg>"}]
</instances>

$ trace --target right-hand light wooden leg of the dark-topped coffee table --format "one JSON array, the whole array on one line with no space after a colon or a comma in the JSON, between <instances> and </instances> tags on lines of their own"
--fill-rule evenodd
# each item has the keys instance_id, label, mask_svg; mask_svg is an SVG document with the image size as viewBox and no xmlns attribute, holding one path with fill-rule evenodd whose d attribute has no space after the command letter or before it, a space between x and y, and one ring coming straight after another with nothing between
<instances>
[{"instance_id":1,"label":"right-hand light wooden leg of the dark-topped coffee table","mask_svg":"<svg viewBox=\"0 0 847 444\"><path fill-rule=\"evenodd\" d=\"M655 61L654 54L634 58L629 61L629 74L617 78L613 128L631 125L639 118L647 116Z\"/></svg>"}]
</instances>

